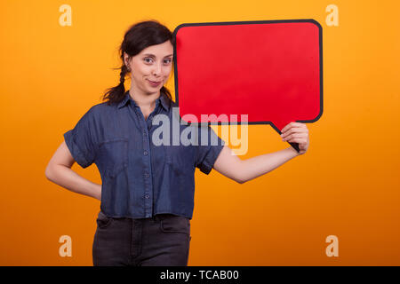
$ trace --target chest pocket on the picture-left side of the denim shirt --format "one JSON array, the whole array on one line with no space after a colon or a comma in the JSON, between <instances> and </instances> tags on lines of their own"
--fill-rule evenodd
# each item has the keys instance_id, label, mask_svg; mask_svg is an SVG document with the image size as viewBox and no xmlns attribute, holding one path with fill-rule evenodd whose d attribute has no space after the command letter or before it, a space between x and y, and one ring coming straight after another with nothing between
<instances>
[{"instance_id":1,"label":"chest pocket on the picture-left side of the denim shirt","mask_svg":"<svg viewBox=\"0 0 400 284\"><path fill-rule=\"evenodd\" d=\"M103 142L99 147L104 174L116 177L128 166L128 139L115 138Z\"/></svg>"}]
</instances>

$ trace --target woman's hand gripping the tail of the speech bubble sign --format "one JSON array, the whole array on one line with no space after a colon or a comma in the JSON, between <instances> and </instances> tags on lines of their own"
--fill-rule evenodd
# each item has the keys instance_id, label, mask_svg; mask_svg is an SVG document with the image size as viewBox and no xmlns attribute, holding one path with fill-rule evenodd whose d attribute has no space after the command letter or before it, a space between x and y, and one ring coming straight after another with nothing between
<instances>
[{"instance_id":1,"label":"woman's hand gripping the tail of the speech bubble sign","mask_svg":"<svg viewBox=\"0 0 400 284\"><path fill-rule=\"evenodd\" d=\"M305 154L308 149L308 128L307 125L301 122L290 122L282 130L282 141L291 143L299 143L299 154Z\"/></svg>"}]
</instances>

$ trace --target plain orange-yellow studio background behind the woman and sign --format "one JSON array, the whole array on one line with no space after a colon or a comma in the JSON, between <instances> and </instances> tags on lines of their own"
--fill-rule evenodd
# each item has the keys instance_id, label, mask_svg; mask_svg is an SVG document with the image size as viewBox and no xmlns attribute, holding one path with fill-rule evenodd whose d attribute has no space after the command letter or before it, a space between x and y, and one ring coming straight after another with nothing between
<instances>
[{"instance_id":1,"label":"plain orange-yellow studio background behind the woman and sign","mask_svg":"<svg viewBox=\"0 0 400 284\"><path fill-rule=\"evenodd\" d=\"M72 26L61 27L61 4ZM325 8L339 8L328 27ZM324 114L308 153L243 185L196 170L189 265L399 265L399 4L396 1L16 1L0 4L1 265L92 265L100 201L44 170L80 117L118 83L134 22L315 19L323 27ZM245 55L244 55L245 56ZM173 91L173 78L167 84ZM225 126L224 126L225 127ZM219 128L219 127L217 127ZM242 158L289 145L250 125ZM92 165L73 170L100 184ZM72 256L59 256L59 238ZM328 235L339 256L328 257Z\"/></svg>"}]
</instances>

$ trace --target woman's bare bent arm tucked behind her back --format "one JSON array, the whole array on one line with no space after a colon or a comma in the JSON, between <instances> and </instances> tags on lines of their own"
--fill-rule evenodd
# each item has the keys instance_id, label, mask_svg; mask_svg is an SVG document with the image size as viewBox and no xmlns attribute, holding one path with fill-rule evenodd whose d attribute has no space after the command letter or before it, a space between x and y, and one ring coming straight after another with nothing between
<instances>
[{"instance_id":1,"label":"woman's bare bent arm tucked behind her back","mask_svg":"<svg viewBox=\"0 0 400 284\"><path fill-rule=\"evenodd\" d=\"M101 200L101 185L94 184L71 170L74 162L75 160L69 152L67 144L63 141L47 165L45 176L53 183L74 193Z\"/></svg>"}]
</instances>

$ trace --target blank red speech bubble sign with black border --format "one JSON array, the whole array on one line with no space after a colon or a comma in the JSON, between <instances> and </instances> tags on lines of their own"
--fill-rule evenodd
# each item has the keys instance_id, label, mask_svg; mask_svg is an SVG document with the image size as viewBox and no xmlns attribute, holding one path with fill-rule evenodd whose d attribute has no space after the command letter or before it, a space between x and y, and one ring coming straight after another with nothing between
<instances>
[{"instance_id":1,"label":"blank red speech bubble sign with black border","mask_svg":"<svg viewBox=\"0 0 400 284\"><path fill-rule=\"evenodd\" d=\"M281 134L289 122L316 122L322 115L322 27L316 20L182 24L173 35L181 117L239 124L240 114L248 114L248 124L270 124Z\"/></svg>"}]
</instances>

